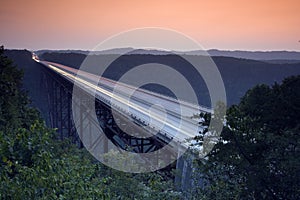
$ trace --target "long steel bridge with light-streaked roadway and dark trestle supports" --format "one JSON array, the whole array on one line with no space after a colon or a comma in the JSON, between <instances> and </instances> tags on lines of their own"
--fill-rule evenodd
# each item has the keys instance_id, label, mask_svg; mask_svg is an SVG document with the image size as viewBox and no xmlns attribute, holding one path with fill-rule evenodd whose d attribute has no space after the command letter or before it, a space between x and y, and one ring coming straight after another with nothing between
<instances>
[{"instance_id":1,"label":"long steel bridge with light-streaked roadway and dark trestle supports","mask_svg":"<svg viewBox=\"0 0 300 200\"><path fill-rule=\"evenodd\" d=\"M100 140L99 151L104 153L110 145L135 153L155 152L168 145L169 158L163 159L178 158L178 151L188 148L189 139L202 130L193 116L212 112L183 100L40 60L34 53L32 59L45 72L42 82L48 91L51 127L58 128L60 139L71 138L88 150L94 148L96 141L99 146ZM80 91L80 98L74 97L74 87ZM90 107L95 107L97 120L91 117ZM87 141L93 135L93 127L101 128L106 137Z\"/></svg>"}]
</instances>

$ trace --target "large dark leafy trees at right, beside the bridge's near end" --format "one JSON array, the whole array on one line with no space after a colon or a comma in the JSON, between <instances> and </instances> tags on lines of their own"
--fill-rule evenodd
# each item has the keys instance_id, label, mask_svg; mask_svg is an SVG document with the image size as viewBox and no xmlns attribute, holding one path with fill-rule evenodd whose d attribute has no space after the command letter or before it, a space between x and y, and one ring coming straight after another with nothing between
<instances>
[{"instance_id":1,"label":"large dark leafy trees at right, beside the bridge's near end","mask_svg":"<svg viewBox=\"0 0 300 200\"><path fill-rule=\"evenodd\" d=\"M300 76L258 85L227 112L222 137L197 162L206 199L300 198Z\"/></svg>"}]
</instances>

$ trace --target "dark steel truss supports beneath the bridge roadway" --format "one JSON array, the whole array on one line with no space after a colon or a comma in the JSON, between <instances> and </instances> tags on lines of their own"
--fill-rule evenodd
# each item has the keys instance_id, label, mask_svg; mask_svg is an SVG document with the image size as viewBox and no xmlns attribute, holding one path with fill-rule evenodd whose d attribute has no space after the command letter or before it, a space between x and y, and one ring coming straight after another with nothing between
<instances>
[{"instance_id":1,"label":"dark steel truss supports beneath the bridge roadway","mask_svg":"<svg viewBox=\"0 0 300 200\"><path fill-rule=\"evenodd\" d=\"M98 99L95 100L94 97L91 97L91 95L84 90L81 91L86 98L81 97L80 101L74 100L73 98L73 104L75 103L78 108L76 110L80 111L79 121L74 123L72 116L73 83L46 67L44 67L42 79L44 89L48 93L50 126L57 128L58 139L63 140L68 138L82 148L83 143L81 139L83 135L78 135L77 130L79 133L84 133L85 136L87 136L93 134L92 131L95 130L93 127L98 127L103 130L106 138L114 145L135 153L158 151L172 140L172 138L166 136L156 135L154 129L144 127L141 123L128 123L136 119L129 114L124 115L124 113L118 110L113 110L106 102L102 102ZM88 109L91 104L95 106L96 121L91 117L91 113ZM75 124L77 127L75 127ZM137 135L149 136L149 132L151 131L154 134L150 137L135 137ZM135 134L129 135L127 133ZM96 138L94 142L96 143L97 140L103 140L103 138ZM107 152L108 143L103 143L102 146L103 151ZM177 158L177 151L170 149L167 155L159 156L168 156L169 158L167 159Z\"/></svg>"}]
</instances>

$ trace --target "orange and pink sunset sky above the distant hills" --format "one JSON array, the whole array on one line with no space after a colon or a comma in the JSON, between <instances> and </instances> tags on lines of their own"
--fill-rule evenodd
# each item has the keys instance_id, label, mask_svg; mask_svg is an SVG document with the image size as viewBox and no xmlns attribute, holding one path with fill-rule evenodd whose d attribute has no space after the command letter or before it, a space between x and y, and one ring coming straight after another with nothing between
<instances>
[{"instance_id":1,"label":"orange and pink sunset sky above the distant hills","mask_svg":"<svg viewBox=\"0 0 300 200\"><path fill-rule=\"evenodd\" d=\"M300 51L299 0L0 0L0 45L93 49L135 28L179 31L204 49Z\"/></svg>"}]
</instances>

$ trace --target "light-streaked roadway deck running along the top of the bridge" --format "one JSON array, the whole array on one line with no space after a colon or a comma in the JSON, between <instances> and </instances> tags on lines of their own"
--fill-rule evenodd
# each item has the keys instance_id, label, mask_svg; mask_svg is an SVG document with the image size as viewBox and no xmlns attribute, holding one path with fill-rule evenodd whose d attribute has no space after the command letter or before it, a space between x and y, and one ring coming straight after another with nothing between
<instances>
[{"instance_id":1,"label":"light-streaked roadway deck running along the top of the bridge","mask_svg":"<svg viewBox=\"0 0 300 200\"><path fill-rule=\"evenodd\" d=\"M118 112L129 115L134 123L157 130L158 133L186 147L190 144L187 139L195 137L202 129L193 115L212 112L206 107L99 77L62 64L42 61L35 54L32 58L70 82L76 81L76 85L84 91L95 95L95 98Z\"/></svg>"}]
</instances>

